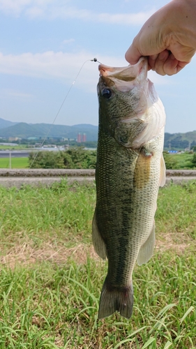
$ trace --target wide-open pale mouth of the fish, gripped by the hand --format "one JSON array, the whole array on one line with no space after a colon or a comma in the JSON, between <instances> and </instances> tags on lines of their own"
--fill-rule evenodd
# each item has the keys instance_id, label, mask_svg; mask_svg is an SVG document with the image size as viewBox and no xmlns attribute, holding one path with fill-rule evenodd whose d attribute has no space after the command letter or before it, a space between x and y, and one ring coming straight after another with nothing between
<instances>
[{"instance_id":1,"label":"wide-open pale mouth of the fish, gripped by the hand","mask_svg":"<svg viewBox=\"0 0 196 349\"><path fill-rule=\"evenodd\" d=\"M126 67L110 67L100 64L98 66L100 72L100 82L105 86L116 86L119 91L130 91L135 86L137 80L146 80L148 72L148 61L146 57L141 57L137 64Z\"/></svg>"}]
</instances>

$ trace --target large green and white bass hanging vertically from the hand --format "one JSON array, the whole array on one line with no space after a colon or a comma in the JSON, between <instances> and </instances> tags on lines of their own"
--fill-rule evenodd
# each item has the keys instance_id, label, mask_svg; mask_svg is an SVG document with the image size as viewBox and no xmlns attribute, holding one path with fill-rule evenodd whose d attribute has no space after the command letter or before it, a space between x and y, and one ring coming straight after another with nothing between
<instances>
[{"instance_id":1,"label":"large green and white bass hanging vertically from the hand","mask_svg":"<svg viewBox=\"0 0 196 349\"><path fill-rule=\"evenodd\" d=\"M98 318L133 313L133 269L155 246L154 216L165 184L165 109L148 79L148 61L113 68L100 64L96 208L92 241L107 258Z\"/></svg>"}]
</instances>

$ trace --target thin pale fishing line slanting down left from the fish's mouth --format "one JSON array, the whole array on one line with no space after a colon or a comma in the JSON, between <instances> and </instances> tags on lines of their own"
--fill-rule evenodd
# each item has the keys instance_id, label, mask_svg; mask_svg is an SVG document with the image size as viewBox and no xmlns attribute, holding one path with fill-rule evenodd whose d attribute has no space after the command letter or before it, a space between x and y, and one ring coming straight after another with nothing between
<instances>
[{"instance_id":1,"label":"thin pale fishing line slanting down left from the fish's mouth","mask_svg":"<svg viewBox=\"0 0 196 349\"><path fill-rule=\"evenodd\" d=\"M47 131L47 134L45 135L45 138L44 138L43 142L41 143L41 146L40 146L40 147L43 147L43 144L45 143L45 140L47 139L47 136L49 135L50 131L52 130L52 127L54 126L54 122L56 121L56 118L58 117L59 112L61 111L61 109L62 109L62 107L63 107L63 104L65 103L66 99L68 98L68 94L70 93L70 90L73 88L73 85L75 84L75 81L77 80L78 75L80 75L80 72L81 72L82 68L84 67L84 64L86 64L86 62L88 62L88 61L93 61L93 62L98 62L98 63L100 63L100 61L98 61L96 58L87 59L86 61L84 61L84 63L82 64L80 70L78 71L78 73L77 73L75 79L73 80L73 83L70 85L70 88L68 89L68 92L67 92L65 98L63 99L63 102L61 103L61 106L59 107L59 110L58 110L58 112L56 113L56 116L54 117L54 121L52 122L52 124L51 124L51 126L50 126L50 128L49 128L49 131ZM101 63L100 63L100 64L101 64ZM37 153L36 153L36 155L34 156L33 161L31 162L31 165L29 166L29 168L28 168L28 170L27 170L27 173L26 173L25 176L22 178L22 182L23 182L24 179L27 177L29 170L31 170L31 167L32 167L34 161L36 160L36 157L38 156L38 153L39 153L39 152L40 152L40 151L38 150ZM16 195L17 195L17 191L15 192L15 195L13 195L13 199L15 199L15 196L16 196ZM3 223L3 219L5 218L7 212L8 212L8 209L6 209L5 213L3 214L3 217L2 217L0 223Z\"/></svg>"}]
</instances>

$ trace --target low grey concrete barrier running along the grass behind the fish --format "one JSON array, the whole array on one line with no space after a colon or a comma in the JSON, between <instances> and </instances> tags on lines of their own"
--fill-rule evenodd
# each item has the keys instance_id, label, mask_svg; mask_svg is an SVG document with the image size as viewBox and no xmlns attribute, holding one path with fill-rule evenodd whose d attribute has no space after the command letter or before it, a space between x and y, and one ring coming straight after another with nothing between
<instances>
[{"instance_id":1,"label":"low grey concrete barrier running along the grass behind the fish","mask_svg":"<svg viewBox=\"0 0 196 349\"><path fill-rule=\"evenodd\" d=\"M95 180L95 170L82 169L0 169L0 186L20 186L31 184L34 186L50 186L54 181L61 181L62 178L68 180L68 184L77 181L79 183L89 183ZM196 181L196 170L167 170L166 184L171 181L181 184L183 181Z\"/></svg>"}]
</instances>

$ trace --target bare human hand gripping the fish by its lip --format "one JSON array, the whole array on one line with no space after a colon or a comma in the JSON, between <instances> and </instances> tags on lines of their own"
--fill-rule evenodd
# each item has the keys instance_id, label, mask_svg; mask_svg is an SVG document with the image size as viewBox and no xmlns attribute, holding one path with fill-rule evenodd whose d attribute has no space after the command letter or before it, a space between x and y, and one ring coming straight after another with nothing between
<instances>
[{"instance_id":1,"label":"bare human hand gripping the fish by its lip","mask_svg":"<svg viewBox=\"0 0 196 349\"><path fill-rule=\"evenodd\" d=\"M136 64L141 56L148 56L149 70L160 75L179 73L195 54L195 16L195 0L173 0L160 8L133 40L126 60Z\"/></svg>"}]
</instances>

